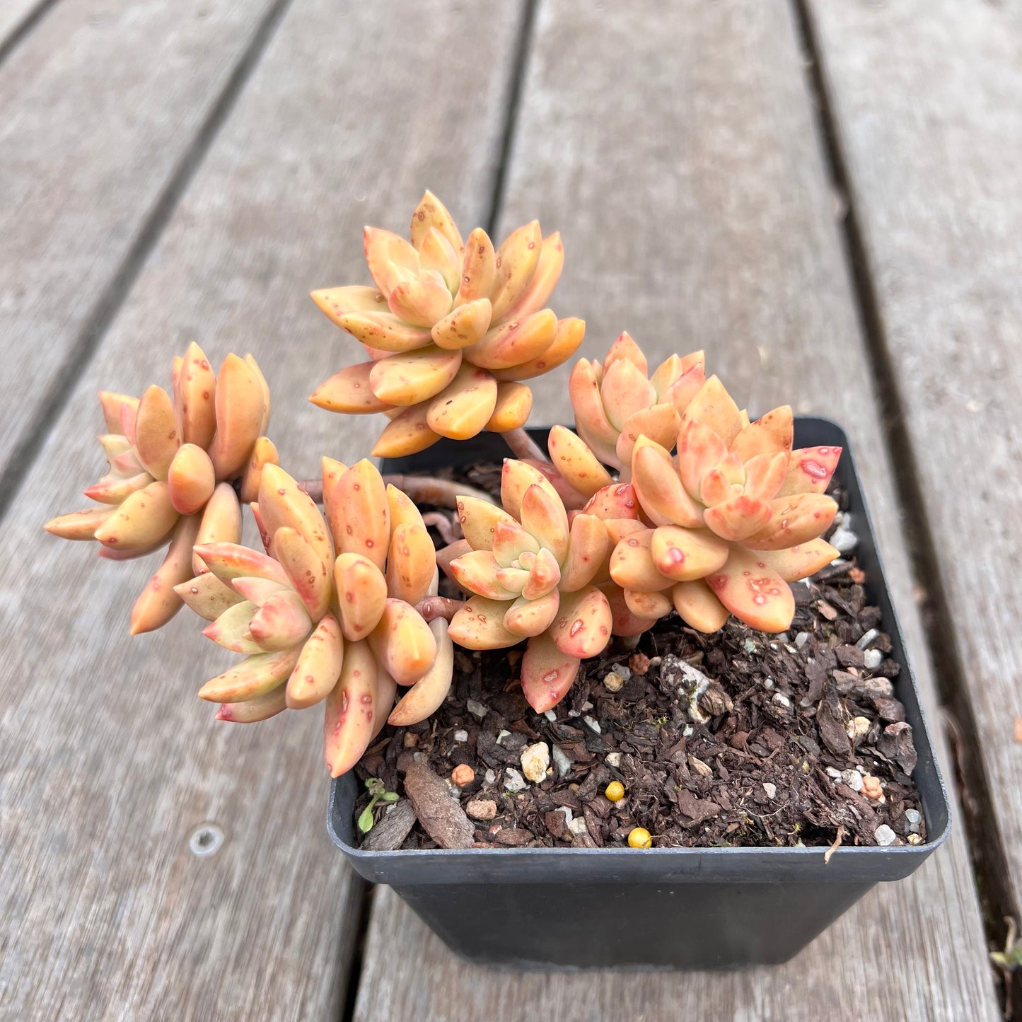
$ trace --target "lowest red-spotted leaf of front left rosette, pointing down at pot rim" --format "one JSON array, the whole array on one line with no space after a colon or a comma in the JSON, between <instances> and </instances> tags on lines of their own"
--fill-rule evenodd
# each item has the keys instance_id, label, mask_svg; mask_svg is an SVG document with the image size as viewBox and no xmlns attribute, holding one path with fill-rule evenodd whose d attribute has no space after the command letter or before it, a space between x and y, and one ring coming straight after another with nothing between
<instances>
[{"instance_id":1,"label":"lowest red-spotted leaf of front left rosette, pointing down at pot rim","mask_svg":"<svg viewBox=\"0 0 1022 1022\"><path fill-rule=\"evenodd\" d=\"M376 679L376 660L368 645L345 646L340 677L326 697L323 722L323 758L331 777L346 774L372 741Z\"/></svg>"}]
</instances>

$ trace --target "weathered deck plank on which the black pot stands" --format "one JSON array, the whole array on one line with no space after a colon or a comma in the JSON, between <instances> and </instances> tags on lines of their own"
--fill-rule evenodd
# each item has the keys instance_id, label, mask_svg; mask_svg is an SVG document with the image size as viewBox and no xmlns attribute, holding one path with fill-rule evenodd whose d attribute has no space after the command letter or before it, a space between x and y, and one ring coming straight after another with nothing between
<instances>
[{"instance_id":1,"label":"weathered deck plank on which the black pot stands","mask_svg":"<svg viewBox=\"0 0 1022 1022\"><path fill-rule=\"evenodd\" d=\"M625 327L661 357L705 346L750 409L791 398L847 426L935 714L796 38L780 0L544 4L504 219L563 232L556 308L587 319L590 356ZM540 383L536 407L564 409L563 387ZM996 1017L961 829L776 969L522 981L455 960L390 892L377 894L365 962L361 1022Z\"/></svg>"}]
</instances>

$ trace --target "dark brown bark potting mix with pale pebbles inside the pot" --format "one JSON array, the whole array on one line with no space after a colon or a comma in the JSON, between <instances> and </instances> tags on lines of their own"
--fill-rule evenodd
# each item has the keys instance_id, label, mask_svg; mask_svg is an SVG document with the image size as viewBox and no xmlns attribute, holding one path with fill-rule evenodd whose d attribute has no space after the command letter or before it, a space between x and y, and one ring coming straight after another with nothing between
<instances>
[{"instance_id":1,"label":"dark brown bark potting mix with pale pebbles inside the pot","mask_svg":"<svg viewBox=\"0 0 1022 1022\"><path fill-rule=\"evenodd\" d=\"M487 467L469 479L499 486ZM846 845L875 845L884 825L895 845L918 844L912 728L864 580L846 558L793 584L782 635L732 618L707 636L671 614L584 661L548 714L521 694L524 645L459 651L443 706L385 728L358 776L410 799L403 848L626 847L634 827L655 847L828 847L839 830ZM536 742L551 751L538 784L521 765ZM475 776L459 789L462 763ZM617 802L604 795L611 781L624 786Z\"/></svg>"}]
</instances>

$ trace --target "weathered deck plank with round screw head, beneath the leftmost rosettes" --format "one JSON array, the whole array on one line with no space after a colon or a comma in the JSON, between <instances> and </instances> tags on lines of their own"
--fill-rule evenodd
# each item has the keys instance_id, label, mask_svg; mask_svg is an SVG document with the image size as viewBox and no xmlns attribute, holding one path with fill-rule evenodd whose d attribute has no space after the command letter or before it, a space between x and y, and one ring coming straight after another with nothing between
<instances>
[{"instance_id":1,"label":"weathered deck plank with round screw head, beneath the leftmost rosettes","mask_svg":"<svg viewBox=\"0 0 1022 1022\"><path fill-rule=\"evenodd\" d=\"M426 183L485 217L520 13L296 0L69 391L0 555L0 1016L339 1017L358 888L325 833L320 715L216 725L194 692L231 657L194 617L128 638L153 564L40 523L100 467L96 387L137 391L192 337L257 355L296 473L368 451L377 423L305 400L354 344L309 288L365 279L362 224L405 223ZM203 821L226 842L200 860Z\"/></svg>"}]
</instances>

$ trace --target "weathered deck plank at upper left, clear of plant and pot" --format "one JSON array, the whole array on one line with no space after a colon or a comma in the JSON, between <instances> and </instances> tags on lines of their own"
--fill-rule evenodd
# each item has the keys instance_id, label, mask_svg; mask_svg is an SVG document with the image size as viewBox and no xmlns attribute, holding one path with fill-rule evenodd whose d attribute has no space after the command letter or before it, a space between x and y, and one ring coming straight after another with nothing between
<instances>
[{"instance_id":1,"label":"weathered deck plank at upper left, clear of plant and pot","mask_svg":"<svg viewBox=\"0 0 1022 1022\"><path fill-rule=\"evenodd\" d=\"M279 0L66 0L0 66L0 478Z\"/></svg>"}]
</instances>

